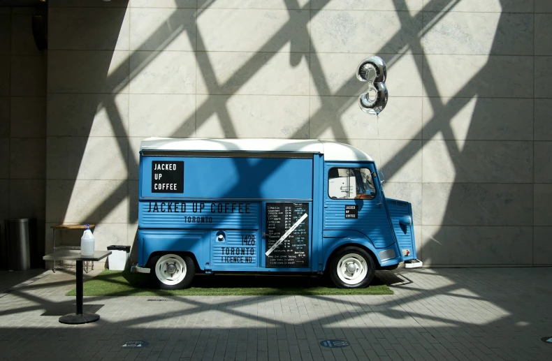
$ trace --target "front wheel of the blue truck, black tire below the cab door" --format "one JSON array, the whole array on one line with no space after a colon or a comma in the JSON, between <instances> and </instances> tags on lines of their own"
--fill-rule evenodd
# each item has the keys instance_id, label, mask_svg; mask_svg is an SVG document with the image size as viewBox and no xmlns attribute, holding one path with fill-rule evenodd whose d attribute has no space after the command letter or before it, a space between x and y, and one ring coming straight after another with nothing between
<instances>
[{"instance_id":1,"label":"front wheel of the blue truck, black tire below the cab door","mask_svg":"<svg viewBox=\"0 0 552 361\"><path fill-rule=\"evenodd\" d=\"M344 262L346 260L351 260L351 262L349 263L356 267L356 270L354 272L344 271L347 270L347 265L344 265ZM368 287L368 285L370 285L370 282L372 282L372 279L374 279L374 275L376 272L374 260L372 260L372 257L370 257L368 252L354 246L344 247L335 252L329 266L330 277L335 286L337 286L338 288ZM359 266L362 267L362 270ZM365 272L363 272L363 270L365 270ZM360 273L356 274L355 277L356 272ZM349 279L347 280L347 276L349 274L351 275L351 277L349 277Z\"/></svg>"}]
</instances>

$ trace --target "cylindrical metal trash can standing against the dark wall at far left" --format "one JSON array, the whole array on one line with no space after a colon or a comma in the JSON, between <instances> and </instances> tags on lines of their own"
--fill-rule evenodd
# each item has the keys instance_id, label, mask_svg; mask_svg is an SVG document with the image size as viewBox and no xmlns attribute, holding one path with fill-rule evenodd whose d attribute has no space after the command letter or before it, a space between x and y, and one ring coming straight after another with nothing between
<instances>
[{"instance_id":1,"label":"cylindrical metal trash can standing against the dark wall at far left","mask_svg":"<svg viewBox=\"0 0 552 361\"><path fill-rule=\"evenodd\" d=\"M6 249L8 258L8 270L26 271L31 269L31 222L28 218L7 219Z\"/></svg>"}]
</instances>

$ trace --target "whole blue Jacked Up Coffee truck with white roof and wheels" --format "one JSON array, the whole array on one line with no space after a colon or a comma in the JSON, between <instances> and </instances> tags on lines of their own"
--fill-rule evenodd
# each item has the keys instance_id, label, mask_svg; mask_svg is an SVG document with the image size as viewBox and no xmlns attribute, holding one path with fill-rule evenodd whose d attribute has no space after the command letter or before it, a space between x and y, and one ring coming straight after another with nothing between
<instances>
[{"instance_id":1,"label":"whole blue Jacked Up Coffee truck with white roof and wheels","mask_svg":"<svg viewBox=\"0 0 552 361\"><path fill-rule=\"evenodd\" d=\"M147 138L138 265L159 288L196 273L328 273L366 287L416 259L412 205L386 198L375 162L326 140Z\"/></svg>"}]
</instances>

